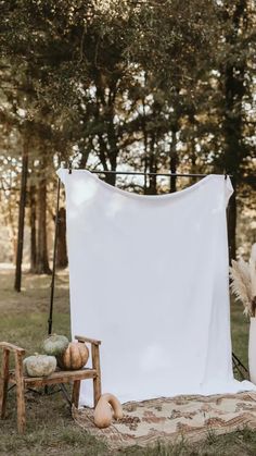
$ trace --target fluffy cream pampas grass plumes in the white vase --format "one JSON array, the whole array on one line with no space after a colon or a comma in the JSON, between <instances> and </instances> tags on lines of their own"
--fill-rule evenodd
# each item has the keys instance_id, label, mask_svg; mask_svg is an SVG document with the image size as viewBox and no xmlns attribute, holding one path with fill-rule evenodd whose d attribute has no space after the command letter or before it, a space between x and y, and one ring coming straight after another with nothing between
<instances>
[{"instance_id":1,"label":"fluffy cream pampas grass plumes in the white vase","mask_svg":"<svg viewBox=\"0 0 256 456\"><path fill-rule=\"evenodd\" d=\"M256 244L252 247L249 261L232 260L230 268L231 291L244 305L244 313L255 317L256 310Z\"/></svg>"}]
</instances>

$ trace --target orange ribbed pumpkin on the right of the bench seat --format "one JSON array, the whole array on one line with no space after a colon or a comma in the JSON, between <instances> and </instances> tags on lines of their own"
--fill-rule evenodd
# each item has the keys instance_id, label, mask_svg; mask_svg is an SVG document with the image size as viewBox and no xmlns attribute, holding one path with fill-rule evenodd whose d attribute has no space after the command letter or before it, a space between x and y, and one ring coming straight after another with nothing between
<instances>
[{"instance_id":1,"label":"orange ribbed pumpkin on the right of the bench seat","mask_svg":"<svg viewBox=\"0 0 256 456\"><path fill-rule=\"evenodd\" d=\"M65 352L57 356L57 366L65 370L81 369L88 361L89 349L81 342L71 342Z\"/></svg>"}]
</instances>

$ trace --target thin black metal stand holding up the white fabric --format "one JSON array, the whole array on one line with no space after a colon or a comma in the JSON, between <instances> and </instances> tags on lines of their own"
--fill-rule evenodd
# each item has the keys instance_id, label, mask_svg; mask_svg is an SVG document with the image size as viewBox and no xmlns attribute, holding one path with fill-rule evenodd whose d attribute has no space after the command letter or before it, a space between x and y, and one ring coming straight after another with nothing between
<instances>
[{"instance_id":1,"label":"thin black metal stand holding up the white fabric","mask_svg":"<svg viewBox=\"0 0 256 456\"><path fill-rule=\"evenodd\" d=\"M165 176L165 177L206 177L208 174L181 174L181 173L143 173L143 172L132 172L132 171L90 171L92 174L120 174L120 175L154 175L154 176ZM68 164L68 173L72 174L72 162ZM225 173L225 178L227 176L232 177L230 174ZM49 309L49 319L48 319L48 334L52 332L52 316L53 316L53 300L54 300L54 286L55 286L55 269L56 269L56 242L57 242L57 229L59 229L59 209L60 209L60 192L61 192L61 180L57 178L57 194L56 194L56 215L55 215L55 230L54 230L54 245L53 245L53 264L52 264L52 281L51 281L51 296L50 296L50 309ZM233 369L236 369L240 375L244 379L245 375L243 372L248 373L248 369L241 362L238 356L232 353L232 362Z\"/></svg>"}]
</instances>

